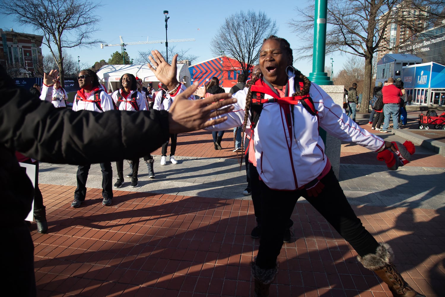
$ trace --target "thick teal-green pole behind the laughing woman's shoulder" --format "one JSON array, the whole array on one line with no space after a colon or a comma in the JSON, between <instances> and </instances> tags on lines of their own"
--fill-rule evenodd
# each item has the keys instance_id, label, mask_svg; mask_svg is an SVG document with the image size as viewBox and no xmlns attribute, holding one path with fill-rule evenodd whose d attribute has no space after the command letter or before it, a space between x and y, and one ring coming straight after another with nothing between
<instances>
[{"instance_id":1,"label":"thick teal-green pole behind the laughing woman's shoulder","mask_svg":"<svg viewBox=\"0 0 445 297\"><path fill-rule=\"evenodd\" d=\"M326 53L326 16L328 0L315 1L314 15L314 51L312 56L312 73L309 80L317 85L333 85L334 83L324 72L324 59Z\"/></svg>"}]
</instances>

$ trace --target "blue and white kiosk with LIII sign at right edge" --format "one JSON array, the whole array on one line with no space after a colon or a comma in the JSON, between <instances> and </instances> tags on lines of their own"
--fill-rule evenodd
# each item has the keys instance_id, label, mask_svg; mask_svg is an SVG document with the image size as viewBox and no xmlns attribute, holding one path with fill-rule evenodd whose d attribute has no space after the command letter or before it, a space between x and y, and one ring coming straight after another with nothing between
<instances>
[{"instance_id":1,"label":"blue and white kiosk with LIII sign at right edge","mask_svg":"<svg viewBox=\"0 0 445 297\"><path fill-rule=\"evenodd\" d=\"M434 62L402 67L406 96L415 105L445 105L445 66Z\"/></svg>"}]
</instances>

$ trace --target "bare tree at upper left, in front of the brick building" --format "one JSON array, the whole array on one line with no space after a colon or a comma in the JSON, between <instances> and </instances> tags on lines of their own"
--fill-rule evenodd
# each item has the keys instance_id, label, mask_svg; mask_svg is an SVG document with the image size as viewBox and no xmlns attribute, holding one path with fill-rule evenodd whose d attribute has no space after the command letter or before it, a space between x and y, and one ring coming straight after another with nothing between
<instances>
[{"instance_id":1,"label":"bare tree at upper left, in front of the brick building","mask_svg":"<svg viewBox=\"0 0 445 297\"><path fill-rule=\"evenodd\" d=\"M81 0L0 0L0 9L16 17L19 24L31 25L43 33L57 68L64 76L64 48L100 43L92 39L101 18L93 12L101 5Z\"/></svg>"}]
</instances>

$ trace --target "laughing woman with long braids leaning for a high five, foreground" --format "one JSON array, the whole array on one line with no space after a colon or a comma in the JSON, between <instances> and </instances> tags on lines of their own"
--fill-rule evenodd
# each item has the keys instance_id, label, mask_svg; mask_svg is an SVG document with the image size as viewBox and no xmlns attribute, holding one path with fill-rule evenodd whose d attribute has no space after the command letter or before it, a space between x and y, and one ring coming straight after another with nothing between
<instances>
[{"instance_id":1,"label":"laughing woman with long braids leaning for a high five, foreground","mask_svg":"<svg viewBox=\"0 0 445 297\"><path fill-rule=\"evenodd\" d=\"M182 92L184 89L176 80L177 56L170 66L158 51L152 55L150 62L154 67L149 67L155 69L156 77L167 85L171 96ZM251 263L255 296L269 295L271 282L278 273L283 232L301 196L352 245L358 260L374 271L394 296L424 296L403 281L392 264L389 245L379 244L357 218L325 155L319 128L371 151L385 148L395 151L395 147L361 129L318 85L294 69L292 63L292 49L286 40L276 36L265 39L259 52L263 77L253 77L244 90L234 94L237 103L228 114L229 119L208 129L224 130L249 126L252 122L249 159L256 163L261 179L263 220L259 251Z\"/></svg>"}]
</instances>

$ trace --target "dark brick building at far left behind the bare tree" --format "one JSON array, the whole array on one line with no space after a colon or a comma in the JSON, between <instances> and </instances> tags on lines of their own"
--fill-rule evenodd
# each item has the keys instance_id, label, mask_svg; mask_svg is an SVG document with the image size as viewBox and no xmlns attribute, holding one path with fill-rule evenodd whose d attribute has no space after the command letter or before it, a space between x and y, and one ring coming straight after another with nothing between
<instances>
[{"instance_id":1,"label":"dark brick building at far left behind the bare tree","mask_svg":"<svg viewBox=\"0 0 445 297\"><path fill-rule=\"evenodd\" d=\"M0 64L15 75L27 77L42 68L43 36L0 29Z\"/></svg>"}]
</instances>

